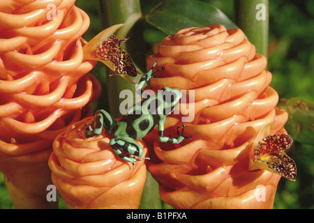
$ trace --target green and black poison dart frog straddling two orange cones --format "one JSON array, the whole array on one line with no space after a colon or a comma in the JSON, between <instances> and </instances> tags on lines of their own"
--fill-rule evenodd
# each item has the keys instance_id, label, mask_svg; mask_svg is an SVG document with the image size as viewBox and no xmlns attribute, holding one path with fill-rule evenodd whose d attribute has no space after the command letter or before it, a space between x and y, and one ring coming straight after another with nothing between
<instances>
[{"instance_id":1,"label":"green and black poison dart frog straddling two orange cones","mask_svg":"<svg viewBox=\"0 0 314 223\"><path fill-rule=\"evenodd\" d=\"M165 137L163 135L165 118L177 107L182 93L178 89L170 89L168 87L150 96L142 91L145 83L149 86L149 79L155 77L154 73L163 69L160 68L153 71L155 66L156 63L154 63L153 68L151 68L149 72L143 75L137 85L137 92L140 91L142 98L146 99L133 105L133 107L122 116L119 122L116 122L105 110L98 110L95 114L94 123L87 126L84 130L84 136L89 138L100 134L103 128L105 128L112 136L109 144L112 146L113 151L117 153L122 160L131 162L133 169L135 169L135 161L149 160L149 157L140 158L143 153L143 148L137 144L135 139L142 139L149 132L154 130L156 125L158 125L158 139L161 142L179 144L186 138L191 139L191 137L184 136L185 125L182 125L181 134L179 134L179 127L177 127L177 138L170 136Z\"/></svg>"}]
</instances>

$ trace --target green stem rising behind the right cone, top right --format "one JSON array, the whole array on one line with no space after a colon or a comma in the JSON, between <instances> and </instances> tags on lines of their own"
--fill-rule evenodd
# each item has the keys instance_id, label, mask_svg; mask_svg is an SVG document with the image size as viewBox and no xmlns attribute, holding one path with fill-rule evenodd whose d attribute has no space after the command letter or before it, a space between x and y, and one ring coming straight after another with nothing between
<instances>
[{"instance_id":1,"label":"green stem rising behind the right cone, top right","mask_svg":"<svg viewBox=\"0 0 314 223\"><path fill-rule=\"evenodd\" d=\"M269 36L269 0L234 0L234 16L256 52L267 57Z\"/></svg>"}]
</instances>

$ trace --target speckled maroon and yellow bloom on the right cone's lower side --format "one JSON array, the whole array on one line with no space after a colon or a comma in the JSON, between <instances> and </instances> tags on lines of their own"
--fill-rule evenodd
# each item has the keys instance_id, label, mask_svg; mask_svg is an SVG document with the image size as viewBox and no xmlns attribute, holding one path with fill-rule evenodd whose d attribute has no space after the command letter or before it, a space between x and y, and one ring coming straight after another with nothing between
<instances>
[{"instance_id":1,"label":"speckled maroon and yellow bloom on the right cone's lower side","mask_svg":"<svg viewBox=\"0 0 314 223\"><path fill-rule=\"evenodd\" d=\"M270 126L265 126L266 129L261 130L262 134L270 132ZM285 153L292 145L292 139L287 134L277 133L269 134L256 142L257 140L260 139L255 139L253 144L253 165L294 181L297 176L297 165Z\"/></svg>"}]
</instances>

